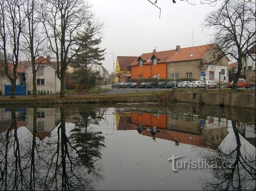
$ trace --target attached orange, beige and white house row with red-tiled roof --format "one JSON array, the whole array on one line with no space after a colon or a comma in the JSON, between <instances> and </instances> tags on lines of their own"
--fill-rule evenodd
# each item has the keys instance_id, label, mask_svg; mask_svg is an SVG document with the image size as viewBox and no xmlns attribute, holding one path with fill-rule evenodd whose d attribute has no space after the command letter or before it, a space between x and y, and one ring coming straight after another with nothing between
<instances>
[{"instance_id":1,"label":"attached orange, beige and white house row with red-tiled roof","mask_svg":"<svg viewBox=\"0 0 256 191\"><path fill-rule=\"evenodd\" d=\"M217 65L200 68L201 63L214 59L212 49L216 45L180 48L142 54L131 64L131 76L134 79L143 78L195 78L202 80L201 72L205 72L205 80L227 82L228 58L225 56ZM216 50L216 49L215 49Z\"/></svg>"}]
</instances>

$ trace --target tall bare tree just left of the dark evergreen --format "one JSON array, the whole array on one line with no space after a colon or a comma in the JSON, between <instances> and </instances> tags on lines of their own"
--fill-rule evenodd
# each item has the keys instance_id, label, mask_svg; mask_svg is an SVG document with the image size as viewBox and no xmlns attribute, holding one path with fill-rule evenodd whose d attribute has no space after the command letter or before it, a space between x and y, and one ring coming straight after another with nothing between
<instances>
[{"instance_id":1,"label":"tall bare tree just left of the dark evergreen","mask_svg":"<svg viewBox=\"0 0 256 191\"><path fill-rule=\"evenodd\" d=\"M42 3L42 19L49 49L56 57L61 94L65 93L65 71L79 51L76 40L82 36L87 22L94 18L90 5L83 0L46 0Z\"/></svg>"}]
</instances>

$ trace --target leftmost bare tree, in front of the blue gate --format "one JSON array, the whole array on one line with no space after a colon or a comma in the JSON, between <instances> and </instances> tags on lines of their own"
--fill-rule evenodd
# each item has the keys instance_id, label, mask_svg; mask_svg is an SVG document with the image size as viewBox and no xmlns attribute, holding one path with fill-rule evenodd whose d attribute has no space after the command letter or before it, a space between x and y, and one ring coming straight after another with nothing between
<instances>
[{"instance_id":1,"label":"leftmost bare tree, in front of the blue gate","mask_svg":"<svg viewBox=\"0 0 256 191\"><path fill-rule=\"evenodd\" d=\"M0 49L4 54L5 75L12 84L11 98L15 98L20 39L24 27L24 16L21 12L23 4L24 0L0 1L0 36L2 40ZM11 60L8 60L9 53L12 55ZM9 69L9 64L12 65L12 71Z\"/></svg>"}]
</instances>

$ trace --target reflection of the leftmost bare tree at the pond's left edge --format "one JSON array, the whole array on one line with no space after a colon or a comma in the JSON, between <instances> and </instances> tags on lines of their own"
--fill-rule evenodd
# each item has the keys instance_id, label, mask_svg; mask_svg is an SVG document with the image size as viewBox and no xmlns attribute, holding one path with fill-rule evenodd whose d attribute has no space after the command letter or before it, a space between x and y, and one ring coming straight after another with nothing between
<instances>
[{"instance_id":1,"label":"reflection of the leftmost bare tree at the pond's left edge","mask_svg":"<svg viewBox=\"0 0 256 191\"><path fill-rule=\"evenodd\" d=\"M2 146L0 152L0 190L23 189L24 177L21 166L22 156L20 154L19 139L17 135L17 119L14 108L11 109L11 115L12 123L6 132L5 139L1 140ZM5 147L3 145L5 145ZM2 150L2 148L4 148L4 151Z\"/></svg>"}]
</instances>

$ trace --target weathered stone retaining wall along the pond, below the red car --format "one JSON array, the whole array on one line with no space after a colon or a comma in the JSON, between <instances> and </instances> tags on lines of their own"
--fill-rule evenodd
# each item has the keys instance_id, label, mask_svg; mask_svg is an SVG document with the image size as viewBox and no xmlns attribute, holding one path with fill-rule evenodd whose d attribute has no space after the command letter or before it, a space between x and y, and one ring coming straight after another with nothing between
<instances>
[{"instance_id":1,"label":"weathered stone retaining wall along the pond, below the red car","mask_svg":"<svg viewBox=\"0 0 256 191\"><path fill-rule=\"evenodd\" d=\"M175 91L177 102L255 108L254 93L216 93Z\"/></svg>"}]
</instances>

